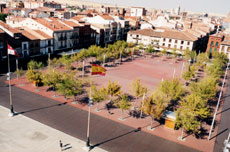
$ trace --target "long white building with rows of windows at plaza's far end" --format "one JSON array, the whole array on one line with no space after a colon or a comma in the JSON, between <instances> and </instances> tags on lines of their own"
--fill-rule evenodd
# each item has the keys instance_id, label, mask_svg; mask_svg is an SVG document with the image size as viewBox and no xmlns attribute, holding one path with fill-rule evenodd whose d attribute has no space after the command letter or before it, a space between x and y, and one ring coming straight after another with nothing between
<instances>
[{"instance_id":1,"label":"long white building with rows of windows at plaza's far end","mask_svg":"<svg viewBox=\"0 0 230 152\"><path fill-rule=\"evenodd\" d=\"M171 29L143 29L128 32L127 42L135 44L153 45L155 49L168 51L176 49L183 51L185 49L193 50L196 46L197 38L193 35Z\"/></svg>"}]
</instances>

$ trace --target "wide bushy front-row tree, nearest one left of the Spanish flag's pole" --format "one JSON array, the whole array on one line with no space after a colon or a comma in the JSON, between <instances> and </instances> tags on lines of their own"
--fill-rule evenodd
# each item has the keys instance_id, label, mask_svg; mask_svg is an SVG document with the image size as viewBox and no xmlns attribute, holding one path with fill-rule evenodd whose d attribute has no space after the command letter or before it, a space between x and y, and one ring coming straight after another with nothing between
<instances>
[{"instance_id":1,"label":"wide bushy front-row tree, nearest one left of the Spanish flag's pole","mask_svg":"<svg viewBox=\"0 0 230 152\"><path fill-rule=\"evenodd\" d=\"M82 82L74 79L70 74L66 74L62 78L62 82L58 83L57 91L64 95L64 97L75 97L83 92Z\"/></svg>"}]
</instances>

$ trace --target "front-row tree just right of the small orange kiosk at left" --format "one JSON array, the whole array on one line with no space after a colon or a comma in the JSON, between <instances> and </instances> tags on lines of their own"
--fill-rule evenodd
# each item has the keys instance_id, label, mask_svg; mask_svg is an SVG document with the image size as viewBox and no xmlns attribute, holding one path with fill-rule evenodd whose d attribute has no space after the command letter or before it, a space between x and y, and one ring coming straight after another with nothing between
<instances>
[{"instance_id":1,"label":"front-row tree just right of the small orange kiosk at left","mask_svg":"<svg viewBox=\"0 0 230 152\"><path fill-rule=\"evenodd\" d=\"M56 96L56 88L62 82L62 75L56 70L50 70L48 73L43 74L42 82L44 85L52 87Z\"/></svg>"}]
</instances>

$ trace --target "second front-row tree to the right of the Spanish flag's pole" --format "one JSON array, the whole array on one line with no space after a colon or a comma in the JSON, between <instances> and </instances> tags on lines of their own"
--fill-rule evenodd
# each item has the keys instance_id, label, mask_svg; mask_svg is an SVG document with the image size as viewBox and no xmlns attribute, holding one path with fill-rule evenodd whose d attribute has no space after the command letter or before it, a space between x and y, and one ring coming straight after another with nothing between
<instances>
[{"instance_id":1,"label":"second front-row tree to the right of the Spanish flag's pole","mask_svg":"<svg viewBox=\"0 0 230 152\"><path fill-rule=\"evenodd\" d=\"M129 97L126 94L123 94L118 98L118 101L115 103L115 106L121 109L121 120L124 120L123 113L124 110L128 110L131 107L131 103L129 102Z\"/></svg>"}]
</instances>

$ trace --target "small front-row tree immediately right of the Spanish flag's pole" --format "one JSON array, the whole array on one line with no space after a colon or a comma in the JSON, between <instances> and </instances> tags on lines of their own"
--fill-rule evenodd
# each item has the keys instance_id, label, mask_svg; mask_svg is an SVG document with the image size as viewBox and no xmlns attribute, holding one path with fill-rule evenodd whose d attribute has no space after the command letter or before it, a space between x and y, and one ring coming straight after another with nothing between
<instances>
[{"instance_id":1,"label":"small front-row tree immediately right of the Spanish flag's pole","mask_svg":"<svg viewBox=\"0 0 230 152\"><path fill-rule=\"evenodd\" d=\"M107 98L106 89L97 89L96 86L92 86L92 98L97 103L97 111L99 111L99 103Z\"/></svg>"}]
</instances>

